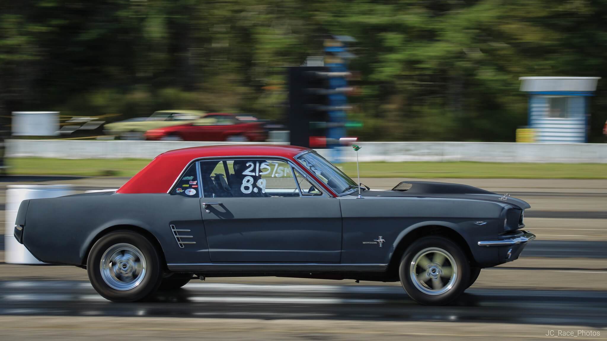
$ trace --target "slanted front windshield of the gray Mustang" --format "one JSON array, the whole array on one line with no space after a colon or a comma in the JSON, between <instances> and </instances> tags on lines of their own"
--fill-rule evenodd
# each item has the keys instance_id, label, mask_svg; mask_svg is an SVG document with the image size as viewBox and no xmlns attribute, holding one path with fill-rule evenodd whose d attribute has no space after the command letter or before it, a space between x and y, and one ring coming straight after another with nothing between
<instances>
[{"instance_id":1,"label":"slanted front windshield of the gray Mustang","mask_svg":"<svg viewBox=\"0 0 607 341\"><path fill-rule=\"evenodd\" d=\"M357 188L354 180L345 175L341 169L314 152L300 155L297 160L337 194L344 194L352 188Z\"/></svg>"}]
</instances>

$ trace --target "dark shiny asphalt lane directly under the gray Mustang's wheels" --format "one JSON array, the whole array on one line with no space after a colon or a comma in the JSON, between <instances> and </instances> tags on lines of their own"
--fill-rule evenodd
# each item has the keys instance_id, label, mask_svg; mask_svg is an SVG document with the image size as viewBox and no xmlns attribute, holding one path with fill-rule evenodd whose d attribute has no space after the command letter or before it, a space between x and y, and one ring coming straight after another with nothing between
<instances>
[{"instance_id":1,"label":"dark shiny asphalt lane directly under the gray Mustang's wheels","mask_svg":"<svg viewBox=\"0 0 607 341\"><path fill-rule=\"evenodd\" d=\"M399 285L259 285L192 281L149 302L113 303L81 281L0 282L1 315L339 319L607 325L606 291L468 289L421 306Z\"/></svg>"}]
</instances>

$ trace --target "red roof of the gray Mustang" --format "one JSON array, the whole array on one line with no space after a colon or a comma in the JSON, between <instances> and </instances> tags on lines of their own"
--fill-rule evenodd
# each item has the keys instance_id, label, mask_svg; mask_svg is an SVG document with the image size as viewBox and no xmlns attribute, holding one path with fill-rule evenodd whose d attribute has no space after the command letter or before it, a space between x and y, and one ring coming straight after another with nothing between
<instances>
[{"instance_id":1,"label":"red roof of the gray Mustang","mask_svg":"<svg viewBox=\"0 0 607 341\"><path fill-rule=\"evenodd\" d=\"M305 150L309 149L272 144L233 144L169 150L158 155L116 192L123 194L166 193L181 174L181 170L196 158L268 156L293 159L295 155Z\"/></svg>"}]
</instances>

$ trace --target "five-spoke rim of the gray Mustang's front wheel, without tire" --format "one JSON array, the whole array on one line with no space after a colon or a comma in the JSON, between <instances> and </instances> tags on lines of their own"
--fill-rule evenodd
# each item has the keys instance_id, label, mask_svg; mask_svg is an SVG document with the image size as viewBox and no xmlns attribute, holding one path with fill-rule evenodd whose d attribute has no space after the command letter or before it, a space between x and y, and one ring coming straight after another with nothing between
<instances>
[{"instance_id":1,"label":"five-spoke rim of the gray Mustang's front wheel, without tire","mask_svg":"<svg viewBox=\"0 0 607 341\"><path fill-rule=\"evenodd\" d=\"M411 281L424 294L440 295L455 285L457 264L449 252L440 248L426 248L411 260Z\"/></svg>"}]
</instances>

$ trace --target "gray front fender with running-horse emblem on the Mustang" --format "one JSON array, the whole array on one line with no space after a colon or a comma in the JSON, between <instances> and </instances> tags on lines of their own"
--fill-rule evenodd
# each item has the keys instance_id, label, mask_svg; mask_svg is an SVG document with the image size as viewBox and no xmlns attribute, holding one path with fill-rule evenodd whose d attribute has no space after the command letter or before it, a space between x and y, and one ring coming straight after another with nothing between
<instances>
[{"instance_id":1,"label":"gray front fender with running-horse emblem on the Mustang","mask_svg":"<svg viewBox=\"0 0 607 341\"><path fill-rule=\"evenodd\" d=\"M402 248L403 243L409 241L411 232L426 226L443 226L460 235L472 254L473 263L490 266L497 262L497 251L480 248L476 243L497 237L498 226L500 223L503 226L500 215L505 205L502 203L429 197L365 197L364 200L340 197L339 200L342 263L389 264L399 246ZM374 243L378 239L385 240L384 245Z\"/></svg>"}]
</instances>

